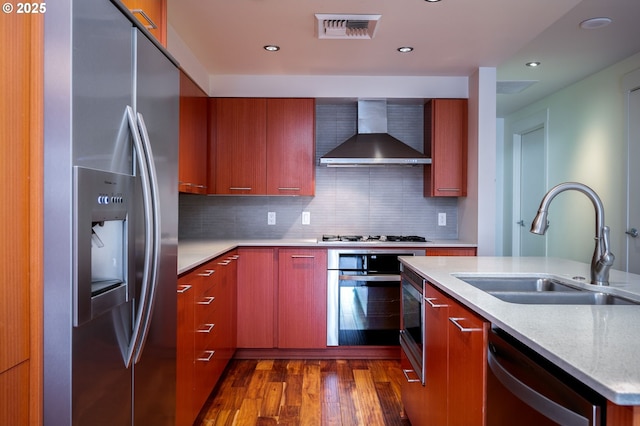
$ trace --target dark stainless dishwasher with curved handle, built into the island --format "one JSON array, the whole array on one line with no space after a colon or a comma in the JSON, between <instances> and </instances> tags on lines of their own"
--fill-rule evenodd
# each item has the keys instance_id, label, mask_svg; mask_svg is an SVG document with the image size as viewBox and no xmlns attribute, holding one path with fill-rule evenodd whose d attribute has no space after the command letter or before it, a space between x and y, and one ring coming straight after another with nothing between
<instances>
[{"instance_id":1,"label":"dark stainless dishwasher with curved handle, built into the island","mask_svg":"<svg viewBox=\"0 0 640 426\"><path fill-rule=\"evenodd\" d=\"M605 399L502 330L489 333L487 425L601 426Z\"/></svg>"}]
</instances>

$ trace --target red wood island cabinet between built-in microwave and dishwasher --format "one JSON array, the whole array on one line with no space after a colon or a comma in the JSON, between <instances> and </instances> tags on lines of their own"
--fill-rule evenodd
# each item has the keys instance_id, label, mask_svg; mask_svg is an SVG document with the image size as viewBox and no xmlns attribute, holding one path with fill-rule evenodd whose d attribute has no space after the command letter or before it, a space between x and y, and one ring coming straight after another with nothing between
<instances>
[{"instance_id":1,"label":"red wood island cabinet between built-in microwave and dishwasher","mask_svg":"<svg viewBox=\"0 0 640 426\"><path fill-rule=\"evenodd\" d=\"M424 386L413 382L402 355L402 402L411 424L486 424L484 416L489 323L430 284L425 286Z\"/></svg>"}]
</instances>

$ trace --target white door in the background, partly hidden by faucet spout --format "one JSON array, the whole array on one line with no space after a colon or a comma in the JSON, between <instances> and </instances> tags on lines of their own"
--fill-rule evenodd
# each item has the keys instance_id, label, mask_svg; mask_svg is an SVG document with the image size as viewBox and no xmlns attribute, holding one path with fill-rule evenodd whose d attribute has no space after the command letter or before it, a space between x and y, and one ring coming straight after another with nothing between
<instances>
[{"instance_id":1,"label":"white door in the background, partly hidden by faucet spout","mask_svg":"<svg viewBox=\"0 0 640 426\"><path fill-rule=\"evenodd\" d=\"M531 222L546 193L544 127L520 135L520 205L516 218L520 256L545 256L546 237L532 234Z\"/></svg>"}]
</instances>

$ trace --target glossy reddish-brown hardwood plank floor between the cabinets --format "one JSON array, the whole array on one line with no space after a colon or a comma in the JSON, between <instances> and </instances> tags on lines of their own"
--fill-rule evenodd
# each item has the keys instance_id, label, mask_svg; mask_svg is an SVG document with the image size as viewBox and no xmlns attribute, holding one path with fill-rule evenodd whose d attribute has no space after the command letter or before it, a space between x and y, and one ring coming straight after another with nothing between
<instances>
[{"instance_id":1,"label":"glossy reddish-brown hardwood plank floor between the cabinets","mask_svg":"<svg viewBox=\"0 0 640 426\"><path fill-rule=\"evenodd\" d=\"M196 425L410 425L396 360L232 360Z\"/></svg>"}]
</instances>

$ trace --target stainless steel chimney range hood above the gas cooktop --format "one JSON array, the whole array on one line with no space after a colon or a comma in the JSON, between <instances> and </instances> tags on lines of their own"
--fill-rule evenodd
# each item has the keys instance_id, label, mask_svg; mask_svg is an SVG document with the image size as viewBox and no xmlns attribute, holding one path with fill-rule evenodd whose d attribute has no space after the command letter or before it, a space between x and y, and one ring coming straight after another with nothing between
<instances>
[{"instance_id":1,"label":"stainless steel chimney range hood above the gas cooktop","mask_svg":"<svg viewBox=\"0 0 640 426\"><path fill-rule=\"evenodd\" d=\"M358 133L320 158L327 167L417 166L431 158L387 133L387 101L358 101Z\"/></svg>"}]
</instances>

